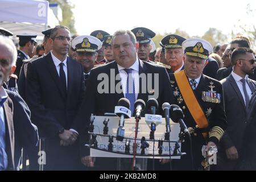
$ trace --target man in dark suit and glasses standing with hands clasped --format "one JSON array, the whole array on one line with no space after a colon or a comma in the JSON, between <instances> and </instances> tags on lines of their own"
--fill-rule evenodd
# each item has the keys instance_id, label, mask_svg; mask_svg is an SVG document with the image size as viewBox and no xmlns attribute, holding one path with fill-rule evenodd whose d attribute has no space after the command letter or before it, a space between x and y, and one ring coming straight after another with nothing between
<instances>
[{"instance_id":1,"label":"man in dark suit and glasses standing with hands clasped","mask_svg":"<svg viewBox=\"0 0 256 182\"><path fill-rule=\"evenodd\" d=\"M28 63L26 98L31 120L40 137L46 137L46 169L79 169L78 129L73 122L80 105L84 82L82 65L67 57L67 27L56 26L49 42L52 51Z\"/></svg>"}]
</instances>

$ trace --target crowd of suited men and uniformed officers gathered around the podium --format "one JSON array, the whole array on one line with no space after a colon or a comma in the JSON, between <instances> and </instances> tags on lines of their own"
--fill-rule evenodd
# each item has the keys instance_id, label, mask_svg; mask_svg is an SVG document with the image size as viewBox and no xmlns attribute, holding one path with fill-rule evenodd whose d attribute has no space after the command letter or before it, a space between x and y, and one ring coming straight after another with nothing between
<instances>
[{"instance_id":1,"label":"crowd of suited men and uniformed officers gathered around the podium","mask_svg":"<svg viewBox=\"0 0 256 182\"><path fill-rule=\"evenodd\" d=\"M186 155L148 160L147 170L205 169L203 146L218 149L211 170L256 170L256 60L245 36L213 48L170 34L155 49L155 32L145 27L71 36L56 26L42 34L41 44L36 35L16 35L16 50L13 34L0 28L0 170L19 170L22 160L26 169L27 159L28 169L39 170L42 139L44 170L117 170L117 158L93 158L86 144L91 115L114 113L123 97L132 116L136 100L152 97L184 113L191 135L191 143L188 136L181 143ZM101 73L109 76L103 92ZM142 82L141 74L158 79ZM156 114L164 116L160 107ZM131 169L130 159L121 162L121 170Z\"/></svg>"}]
</instances>

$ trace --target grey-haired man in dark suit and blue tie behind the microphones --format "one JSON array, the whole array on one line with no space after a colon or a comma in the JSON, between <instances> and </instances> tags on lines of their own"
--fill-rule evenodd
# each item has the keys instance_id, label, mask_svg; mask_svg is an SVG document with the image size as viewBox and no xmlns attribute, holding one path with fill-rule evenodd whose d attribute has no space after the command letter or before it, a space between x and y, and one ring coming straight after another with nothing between
<instances>
[{"instance_id":1,"label":"grey-haired man in dark suit and blue tie behind the microphones","mask_svg":"<svg viewBox=\"0 0 256 182\"><path fill-rule=\"evenodd\" d=\"M159 106L162 106L163 102L173 101L166 69L138 59L138 44L133 32L115 32L112 48L115 61L92 69L87 82L89 89L86 89L85 99L76 118L76 122L81 123L82 130L79 132L87 137L86 126L89 124L91 113L114 113L114 107L122 97L130 101L131 113L134 113L134 102L137 99L146 102L148 98L154 97L158 100ZM143 75L146 80L141 79ZM160 113L160 107L157 112ZM86 142L88 140L81 141L81 160L85 166L92 167L94 160L89 156L89 149L84 146ZM115 170L112 164L113 162L105 163L97 169Z\"/></svg>"}]
</instances>

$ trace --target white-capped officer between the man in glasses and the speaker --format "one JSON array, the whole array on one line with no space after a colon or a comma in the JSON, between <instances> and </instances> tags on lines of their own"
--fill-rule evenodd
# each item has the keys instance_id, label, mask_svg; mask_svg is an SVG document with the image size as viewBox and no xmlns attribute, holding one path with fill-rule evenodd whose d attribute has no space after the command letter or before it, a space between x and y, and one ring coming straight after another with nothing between
<instances>
[{"instance_id":1,"label":"white-capped officer between the man in glasses and the speaker","mask_svg":"<svg viewBox=\"0 0 256 182\"><path fill-rule=\"evenodd\" d=\"M76 51L76 61L84 67L84 79L90 75L90 70L94 67L94 63L98 56L98 50L101 49L101 41L91 35L77 36L72 40L72 48Z\"/></svg>"}]
</instances>

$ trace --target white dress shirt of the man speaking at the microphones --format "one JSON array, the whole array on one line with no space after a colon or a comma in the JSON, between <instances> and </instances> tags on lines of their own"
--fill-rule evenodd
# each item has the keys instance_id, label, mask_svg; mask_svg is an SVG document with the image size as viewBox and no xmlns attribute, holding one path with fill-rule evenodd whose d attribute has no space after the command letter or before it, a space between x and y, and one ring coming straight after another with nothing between
<instances>
[{"instance_id":1,"label":"white dress shirt of the man speaking at the microphones","mask_svg":"<svg viewBox=\"0 0 256 182\"><path fill-rule=\"evenodd\" d=\"M117 64L118 67L118 71L120 74L120 78L121 78L121 84L122 84L122 89L123 89L123 96L125 97L126 94L126 81L127 81L127 73L126 71L124 71L123 67L121 67L121 65ZM131 67L129 67L131 69L133 69L132 71L132 76L133 76L133 80L134 80L134 90L135 90L135 100L137 100L138 97L138 93L139 93L139 60L137 57L137 60L135 61L135 63L133 65L131 65ZM128 69L128 68L127 68Z\"/></svg>"}]
</instances>

